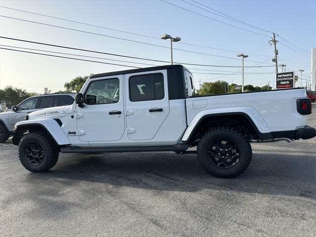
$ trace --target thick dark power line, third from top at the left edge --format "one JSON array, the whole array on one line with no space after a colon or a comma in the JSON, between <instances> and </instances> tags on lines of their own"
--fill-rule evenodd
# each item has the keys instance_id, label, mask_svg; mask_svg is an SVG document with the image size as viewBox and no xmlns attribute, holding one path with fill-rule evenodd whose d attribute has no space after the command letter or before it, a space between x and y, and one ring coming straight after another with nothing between
<instances>
[{"instance_id":1,"label":"thick dark power line, third from top at the left edge","mask_svg":"<svg viewBox=\"0 0 316 237\"><path fill-rule=\"evenodd\" d=\"M95 51L95 50L67 47L67 46L62 46L62 45L57 45L57 44L42 43L42 42L31 41L31 40L21 40L21 39L2 37L2 36L0 36L0 38L7 39L7 40L17 40L17 41L28 42L28 43L36 43L36 44L41 44L41 45L53 46L53 47L67 48L67 49L73 49L73 50L80 50L80 51L85 51L85 52L100 53L100 54L106 54L106 55L112 55L112 56L118 56L118 57L126 57L126 58L141 59L141 60L154 61L154 62L170 63L169 61L162 61L162 60L155 60L155 59L149 59L149 58L133 57L133 56L127 56L127 55L121 55L121 54L113 54L113 53L107 53L107 52L101 52L101 51ZM175 62L175 63L177 63L177 64L184 64L184 65L205 66L205 67L240 68L240 66L193 64L193 63L181 63L181 62ZM260 66L260 67L272 67L272 66ZM258 68L260 68L260 67L258 67Z\"/></svg>"}]
</instances>

